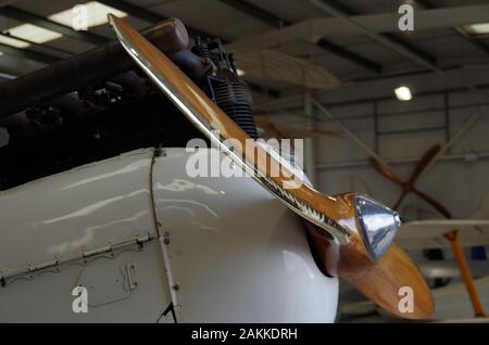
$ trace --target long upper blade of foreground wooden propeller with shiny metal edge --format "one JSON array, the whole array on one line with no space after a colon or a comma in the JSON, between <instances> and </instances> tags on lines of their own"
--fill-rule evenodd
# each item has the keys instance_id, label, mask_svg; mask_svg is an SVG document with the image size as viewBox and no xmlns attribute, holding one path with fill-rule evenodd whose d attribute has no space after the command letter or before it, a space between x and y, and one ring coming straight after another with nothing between
<instances>
[{"instance_id":1,"label":"long upper blade of foreground wooden propeller with shiny metal edge","mask_svg":"<svg viewBox=\"0 0 489 345\"><path fill-rule=\"evenodd\" d=\"M109 20L129 56L183 116L287 207L317 225L324 235L333 237L343 245L350 242L350 232L333 219L336 213L341 212L334 197L313 189L289 162L251 139L180 68L130 25L112 14ZM226 140L234 141L235 150L226 145Z\"/></svg>"}]
</instances>

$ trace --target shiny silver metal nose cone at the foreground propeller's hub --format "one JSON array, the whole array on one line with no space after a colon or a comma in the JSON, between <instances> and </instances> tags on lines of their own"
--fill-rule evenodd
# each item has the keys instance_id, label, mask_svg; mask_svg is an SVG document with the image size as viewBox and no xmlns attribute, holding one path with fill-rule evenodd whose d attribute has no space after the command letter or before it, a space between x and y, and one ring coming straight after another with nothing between
<instances>
[{"instance_id":1,"label":"shiny silver metal nose cone at the foreground propeller's hub","mask_svg":"<svg viewBox=\"0 0 489 345\"><path fill-rule=\"evenodd\" d=\"M378 260L387 253L401 228L401 217L366 195L358 195L355 204L363 242L372 257Z\"/></svg>"}]
</instances>

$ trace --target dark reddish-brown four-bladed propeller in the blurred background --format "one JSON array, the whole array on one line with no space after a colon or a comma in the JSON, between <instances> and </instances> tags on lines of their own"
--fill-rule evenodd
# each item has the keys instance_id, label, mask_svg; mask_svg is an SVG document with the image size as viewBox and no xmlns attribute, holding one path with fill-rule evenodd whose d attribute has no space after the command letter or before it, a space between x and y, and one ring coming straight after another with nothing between
<instances>
[{"instance_id":1,"label":"dark reddish-brown four-bladed propeller in the blurred background","mask_svg":"<svg viewBox=\"0 0 489 345\"><path fill-rule=\"evenodd\" d=\"M374 166L374 168L380 173L385 178L389 179L390 181L394 182L396 184L399 184L402 188L401 195L399 196L396 204L392 206L392 209L399 209L401 206L401 203L404 201L405 196L409 193L414 193L421 199L423 199L425 202L427 202L429 205L435 207L440 214L442 214L446 218L451 218L450 212L444 208L438 201L432 199L431 196L427 195L426 193L419 191L415 184L422 173L426 169L428 164L435 158L437 153L441 150L440 145L435 145L431 149L429 149L423 157L419 159L419 162L416 164L416 167L414 168L410 179L408 181L403 181L394 171L392 171L389 167L385 166L378 159L371 157L371 164Z\"/></svg>"}]
</instances>

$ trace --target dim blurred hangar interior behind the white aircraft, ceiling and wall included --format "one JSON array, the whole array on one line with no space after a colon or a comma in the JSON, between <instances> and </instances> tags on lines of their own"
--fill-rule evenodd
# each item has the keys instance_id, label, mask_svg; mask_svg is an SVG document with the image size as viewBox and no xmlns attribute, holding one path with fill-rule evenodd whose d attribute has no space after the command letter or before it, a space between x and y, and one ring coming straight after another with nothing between
<instances>
[{"instance_id":1,"label":"dim blurred hangar interior behind the white aircraft, ceiling and wall included","mask_svg":"<svg viewBox=\"0 0 489 345\"><path fill-rule=\"evenodd\" d=\"M113 40L108 13L138 30L177 17L192 42L197 36L218 37L235 53L238 73L252 90L259 133L304 138L303 166L317 190L330 195L356 191L393 206L404 188L408 193L399 210L408 222L446 219L440 208L453 219L480 220L462 229L461 235L464 243L466 230L473 240L463 251L479 304L489 312L487 1L87 3L88 30L77 31L72 28L72 11L79 0L0 1L3 79ZM414 30L398 26L403 4L415 10ZM0 144L8 145L8 130L0 128ZM429 150L429 162L416 171ZM383 166L399 177L389 180L379 171ZM442 206L437 209L413 187ZM473 319L474 301L464 288L450 242L437 229L419 227L413 226L405 248L432 289L437 318ZM439 245L426 245L429 241ZM399 243L403 245L402 239ZM337 320L392 318L341 281Z\"/></svg>"}]
</instances>

